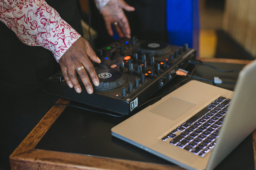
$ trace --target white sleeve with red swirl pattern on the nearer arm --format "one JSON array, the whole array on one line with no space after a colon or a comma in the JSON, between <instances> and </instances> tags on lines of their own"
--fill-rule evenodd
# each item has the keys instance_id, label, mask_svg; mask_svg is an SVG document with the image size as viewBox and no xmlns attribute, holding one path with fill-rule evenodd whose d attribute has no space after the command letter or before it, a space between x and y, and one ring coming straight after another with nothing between
<instances>
[{"instance_id":1,"label":"white sleeve with red swirl pattern on the nearer arm","mask_svg":"<svg viewBox=\"0 0 256 170\"><path fill-rule=\"evenodd\" d=\"M81 36L44 0L0 0L0 20L23 43L52 51L57 62Z\"/></svg>"}]
</instances>

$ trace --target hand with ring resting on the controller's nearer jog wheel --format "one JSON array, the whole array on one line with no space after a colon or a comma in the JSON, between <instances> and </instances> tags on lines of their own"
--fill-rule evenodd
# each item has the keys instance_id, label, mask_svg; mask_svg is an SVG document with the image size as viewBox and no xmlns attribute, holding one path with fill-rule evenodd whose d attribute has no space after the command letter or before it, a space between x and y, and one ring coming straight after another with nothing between
<instances>
[{"instance_id":1,"label":"hand with ring resting on the controller's nearer jog wheel","mask_svg":"<svg viewBox=\"0 0 256 170\"><path fill-rule=\"evenodd\" d=\"M95 86L99 85L98 76L90 61L100 63L100 59L96 56L88 41L83 37L78 38L76 42L62 55L59 60L62 74L70 88L74 87L77 93L81 93L81 87L76 76L76 69L84 66L85 69L78 71L78 74L89 94L93 93L93 88L87 72L90 74L91 80ZM87 70L87 72L86 72Z\"/></svg>"}]
</instances>

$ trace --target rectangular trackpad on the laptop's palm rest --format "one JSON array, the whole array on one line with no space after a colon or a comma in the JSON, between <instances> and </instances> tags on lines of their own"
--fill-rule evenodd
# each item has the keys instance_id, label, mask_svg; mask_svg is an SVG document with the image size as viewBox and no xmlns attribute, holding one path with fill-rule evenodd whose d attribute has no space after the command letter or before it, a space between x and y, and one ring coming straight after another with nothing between
<instances>
[{"instance_id":1,"label":"rectangular trackpad on the laptop's palm rest","mask_svg":"<svg viewBox=\"0 0 256 170\"><path fill-rule=\"evenodd\" d=\"M150 112L166 117L170 120L175 120L194 106L196 106L196 104L171 97L155 108L151 109Z\"/></svg>"}]
</instances>

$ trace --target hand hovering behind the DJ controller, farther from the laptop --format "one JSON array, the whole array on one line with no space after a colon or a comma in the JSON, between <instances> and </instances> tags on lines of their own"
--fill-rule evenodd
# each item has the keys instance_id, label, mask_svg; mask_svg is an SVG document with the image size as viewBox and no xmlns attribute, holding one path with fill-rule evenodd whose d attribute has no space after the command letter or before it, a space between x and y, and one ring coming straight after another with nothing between
<instances>
[{"instance_id":1,"label":"hand hovering behind the DJ controller, farther from the laptop","mask_svg":"<svg viewBox=\"0 0 256 170\"><path fill-rule=\"evenodd\" d=\"M110 0L102 9L102 16L106 23L106 28L109 35L113 36L113 31L111 29L111 23L117 22L114 25L118 35L120 37L131 38L131 30L129 22L124 14L123 9L126 11L134 11L135 8L126 4L123 0Z\"/></svg>"}]
</instances>

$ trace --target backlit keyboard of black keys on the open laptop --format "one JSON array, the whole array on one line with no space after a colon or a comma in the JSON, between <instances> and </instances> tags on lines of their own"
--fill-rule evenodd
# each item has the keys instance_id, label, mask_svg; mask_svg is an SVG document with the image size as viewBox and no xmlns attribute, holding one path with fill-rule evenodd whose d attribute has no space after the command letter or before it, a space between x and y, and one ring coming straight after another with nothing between
<instances>
[{"instance_id":1,"label":"backlit keyboard of black keys on the open laptop","mask_svg":"<svg viewBox=\"0 0 256 170\"><path fill-rule=\"evenodd\" d=\"M220 96L162 138L163 141L204 156L214 146L231 99Z\"/></svg>"}]
</instances>

